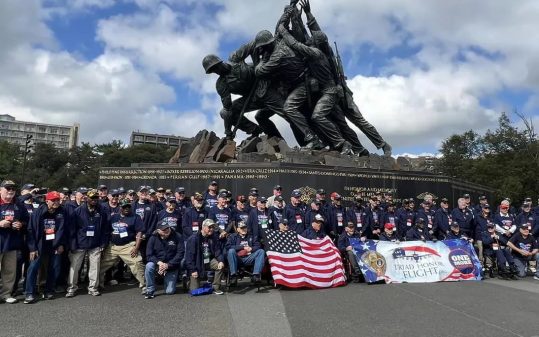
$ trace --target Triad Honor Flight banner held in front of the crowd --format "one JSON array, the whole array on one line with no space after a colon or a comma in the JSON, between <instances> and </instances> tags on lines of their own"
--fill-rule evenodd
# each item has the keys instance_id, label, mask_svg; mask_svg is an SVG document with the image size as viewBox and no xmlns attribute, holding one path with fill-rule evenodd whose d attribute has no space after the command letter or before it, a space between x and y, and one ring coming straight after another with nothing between
<instances>
[{"instance_id":1,"label":"Triad Honor Flight banner held in front of the crowd","mask_svg":"<svg viewBox=\"0 0 539 337\"><path fill-rule=\"evenodd\" d=\"M466 240L350 242L369 283L481 280L481 263Z\"/></svg>"}]
</instances>

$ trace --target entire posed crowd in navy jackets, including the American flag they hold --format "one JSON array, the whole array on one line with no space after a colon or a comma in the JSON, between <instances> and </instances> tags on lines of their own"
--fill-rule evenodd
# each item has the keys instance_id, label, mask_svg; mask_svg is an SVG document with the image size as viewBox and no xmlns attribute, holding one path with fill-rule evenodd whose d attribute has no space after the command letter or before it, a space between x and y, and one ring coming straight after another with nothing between
<instances>
[{"instance_id":1,"label":"entire posed crowd in navy jackets, including the American flag they hold","mask_svg":"<svg viewBox=\"0 0 539 337\"><path fill-rule=\"evenodd\" d=\"M268 198L257 188L246 192L233 198L217 181L188 196L183 187L43 191L5 180L2 299L15 303L22 292L25 303L34 303L58 296L59 288L74 297L86 279L88 294L99 296L129 277L147 299L161 282L165 294L181 285L193 295L222 294L246 275L258 287L264 279L283 287L337 287L363 277L353 247L358 240L463 240L485 276L495 271L503 278L525 277L538 259L539 209L531 199L518 211L507 199L491 211L484 196L473 205L463 195L451 209L446 198L438 206L428 194L416 208L414 198L397 206L387 193L357 196L345 207L342 196L326 198L323 189L310 200L301 189L285 198L279 185Z\"/></svg>"}]
</instances>

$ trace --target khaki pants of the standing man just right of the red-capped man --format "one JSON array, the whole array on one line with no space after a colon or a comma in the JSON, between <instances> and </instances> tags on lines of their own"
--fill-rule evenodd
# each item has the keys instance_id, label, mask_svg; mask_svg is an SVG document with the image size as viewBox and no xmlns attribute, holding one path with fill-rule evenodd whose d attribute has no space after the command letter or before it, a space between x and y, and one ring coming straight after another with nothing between
<instances>
[{"instance_id":1,"label":"khaki pants of the standing man just right of the red-capped man","mask_svg":"<svg viewBox=\"0 0 539 337\"><path fill-rule=\"evenodd\" d=\"M69 253L69 277L67 280L67 291L75 292L79 289L79 271L84 261L84 255L88 253L90 267L88 268L88 291L97 291L99 286L99 269L101 265L101 248L97 247L89 250L77 250Z\"/></svg>"}]
</instances>

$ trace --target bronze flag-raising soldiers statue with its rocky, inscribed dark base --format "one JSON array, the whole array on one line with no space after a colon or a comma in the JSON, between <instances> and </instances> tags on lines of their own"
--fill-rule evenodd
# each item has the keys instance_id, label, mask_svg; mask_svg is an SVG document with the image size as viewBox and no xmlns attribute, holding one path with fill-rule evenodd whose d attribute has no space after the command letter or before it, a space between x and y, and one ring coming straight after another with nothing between
<instances>
[{"instance_id":1,"label":"bronze flag-raising soldiers statue with its rocky, inscribed dark base","mask_svg":"<svg viewBox=\"0 0 539 337\"><path fill-rule=\"evenodd\" d=\"M338 192L345 201L376 192L392 193L396 201L430 193L453 202L463 192L492 193L436 175L428 162L418 167L407 158L391 157L390 144L354 102L337 44L333 50L309 0L292 0L273 33L258 32L228 60L207 55L202 66L207 74L218 75L225 137L200 131L180 143L169 163L103 168L100 183L126 189L184 187L192 194L204 192L215 180L234 195L257 187L268 196L280 185L285 191L301 189L304 201L314 198L319 188ZM257 123L245 116L253 111ZM290 125L298 147L286 143L270 119L274 115ZM348 122L384 155L369 154ZM248 135L239 145L234 140L237 130Z\"/></svg>"}]
</instances>

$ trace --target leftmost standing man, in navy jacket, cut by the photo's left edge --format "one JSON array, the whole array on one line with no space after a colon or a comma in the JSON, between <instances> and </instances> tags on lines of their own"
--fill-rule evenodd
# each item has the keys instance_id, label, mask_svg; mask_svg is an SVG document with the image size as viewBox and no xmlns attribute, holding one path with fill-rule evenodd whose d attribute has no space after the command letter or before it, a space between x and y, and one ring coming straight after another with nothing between
<instances>
[{"instance_id":1,"label":"leftmost standing man, in navy jacket, cut by the photo's left edge","mask_svg":"<svg viewBox=\"0 0 539 337\"><path fill-rule=\"evenodd\" d=\"M4 180L0 184L0 296L6 303L16 303L11 296L17 272L17 251L23 248L23 230L29 216L24 204L15 198L15 183Z\"/></svg>"}]
</instances>

